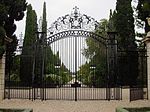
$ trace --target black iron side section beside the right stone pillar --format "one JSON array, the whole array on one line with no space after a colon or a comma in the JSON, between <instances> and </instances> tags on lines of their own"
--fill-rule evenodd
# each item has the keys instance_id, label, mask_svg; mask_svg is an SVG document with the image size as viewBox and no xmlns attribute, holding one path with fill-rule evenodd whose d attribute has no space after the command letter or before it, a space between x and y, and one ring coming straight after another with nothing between
<instances>
[{"instance_id":1,"label":"black iron side section beside the right stone pillar","mask_svg":"<svg viewBox=\"0 0 150 112\"><path fill-rule=\"evenodd\" d=\"M133 64L135 65L133 66ZM121 85L127 85L130 101L147 99L147 53L145 47L139 47L136 51L118 51L118 66L118 73L121 76L119 80L122 82Z\"/></svg>"}]
</instances>

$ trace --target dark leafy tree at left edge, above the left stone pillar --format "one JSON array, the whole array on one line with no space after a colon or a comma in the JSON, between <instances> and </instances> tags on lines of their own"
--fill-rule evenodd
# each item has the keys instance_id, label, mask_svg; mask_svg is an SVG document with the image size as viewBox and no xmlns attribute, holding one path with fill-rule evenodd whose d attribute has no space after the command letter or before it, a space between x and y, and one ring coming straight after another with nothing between
<instances>
[{"instance_id":1,"label":"dark leafy tree at left edge, above the left stone pillar","mask_svg":"<svg viewBox=\"0 0 150 112\"><path fill-rule=\"evenodd\" d=\"M20 21L24 17L26 10L26 0L0 0L0 58L6 51L6 78L12 65L12 56L17 46L15 21ZM4 38L9 37L12 42L4 44Z\"/></svg>"}]
</instances>

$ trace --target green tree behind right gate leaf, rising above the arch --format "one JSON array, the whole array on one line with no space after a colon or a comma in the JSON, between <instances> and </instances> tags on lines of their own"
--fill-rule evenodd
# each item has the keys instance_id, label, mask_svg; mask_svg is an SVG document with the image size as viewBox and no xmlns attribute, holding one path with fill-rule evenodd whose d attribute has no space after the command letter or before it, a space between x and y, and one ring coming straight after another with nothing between
<instances>
[{"instance_id":1,"label":"green tree behind right gate leaf, rising above the arch","mask_svg":"<svg viewBox=\"0 0 150 112\"><path fill-rule=\"evenodd\" d=\"M106 38L107 26L108 20L100 20L100 27L95 33ZM83 55L89 62L80 67L78 80L88 86L104 87L107 76L106 46L91 37L86 39L86 44ZM95 68L91 68L92 66Z\"/></svg>"}]
</instances>

